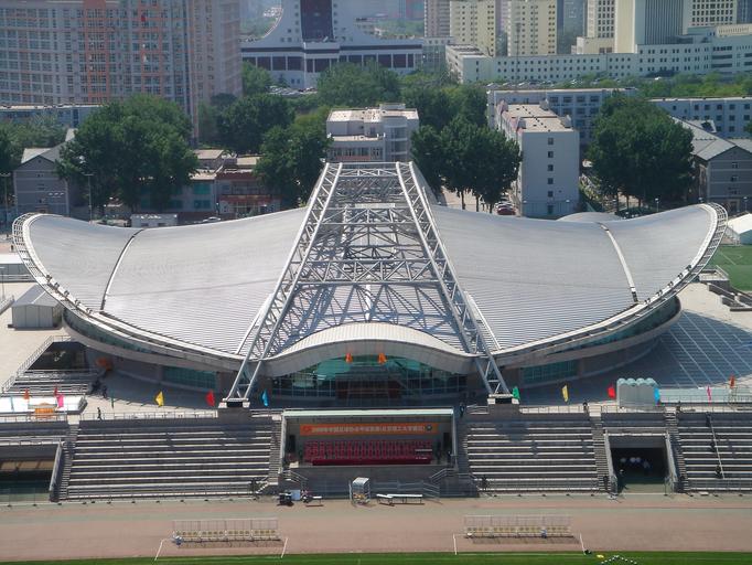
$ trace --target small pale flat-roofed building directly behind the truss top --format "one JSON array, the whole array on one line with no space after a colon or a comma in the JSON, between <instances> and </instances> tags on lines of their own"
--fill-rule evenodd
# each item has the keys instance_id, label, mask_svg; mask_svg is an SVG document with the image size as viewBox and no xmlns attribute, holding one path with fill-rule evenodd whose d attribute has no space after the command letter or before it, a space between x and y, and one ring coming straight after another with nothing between
<instances>
[{"instance_id":1,"label":"small pale flat-roofed building directly behind the truss top","mask_svg":"<svg viewBox=\"0 0 752 565\"><path fill-rule=\"evenodd\" d=\"M418 111L404 104L378 108L332 110L326 119L331 162L409 161L410 138L419 127Z\"/></svg>"}]
</instances>

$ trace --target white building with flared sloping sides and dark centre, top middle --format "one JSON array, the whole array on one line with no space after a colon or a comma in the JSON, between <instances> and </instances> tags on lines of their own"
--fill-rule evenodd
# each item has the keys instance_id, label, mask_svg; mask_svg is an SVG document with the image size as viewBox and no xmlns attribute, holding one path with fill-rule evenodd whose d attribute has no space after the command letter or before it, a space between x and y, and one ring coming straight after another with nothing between
<instances>
[{"instance_id":1,"label":"white building with flared sloping sides and dark centre, top middle","mask_svg":"<svg viewBox=\"0 0 752 565\"><path fill-rule=\"evenodd\" d=\"M340 63L378 64L399 74L420 65L422 41L382 40L356 25L358 7L336 0L282 0L271 31L243 42L243 60L293 88L315 87L319 74Z\"/></svg>"}]
</instances>

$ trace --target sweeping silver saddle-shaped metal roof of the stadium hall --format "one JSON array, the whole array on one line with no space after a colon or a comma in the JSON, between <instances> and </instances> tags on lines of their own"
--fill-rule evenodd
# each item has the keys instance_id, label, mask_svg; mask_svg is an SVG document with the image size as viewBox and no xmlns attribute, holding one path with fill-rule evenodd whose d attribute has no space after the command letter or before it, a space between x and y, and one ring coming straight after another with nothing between
<instances>
[{"instance_id":1,"label":"sweeping silver saddle-shaped metal roof of the stadium hall","mask_svg":"<svg viewBox=\"0 0 752 565\"><path fill-rule=\"evenodd\" d=\"M327 166L305 210L155 230L32 215L14 237L65 306L147 341L272 359L323 348L319 332L373 333L332 328L388 323L466 362L623 328L691 278L726 225L708 204L551 222L451 210L423 191L412 166Z\"/></svg>"}]
</instances>

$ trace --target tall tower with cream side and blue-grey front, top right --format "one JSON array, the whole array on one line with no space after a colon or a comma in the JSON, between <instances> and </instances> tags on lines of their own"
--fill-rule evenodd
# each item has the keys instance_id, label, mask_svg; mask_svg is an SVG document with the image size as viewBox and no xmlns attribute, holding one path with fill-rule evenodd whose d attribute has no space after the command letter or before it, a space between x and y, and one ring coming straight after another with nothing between
<instances>
[{"instance_id":1,"label":"tall tower with cream side and blue-grey front, top right","mask_svg":"<svg viewBox=\"0 0 752 565\"><path fill-rule=\"evenodd\" d=\"M615 8L614 51L636 53L637 45L676 42L691 0L616 0Z\"/></svg>"}]
</instances>

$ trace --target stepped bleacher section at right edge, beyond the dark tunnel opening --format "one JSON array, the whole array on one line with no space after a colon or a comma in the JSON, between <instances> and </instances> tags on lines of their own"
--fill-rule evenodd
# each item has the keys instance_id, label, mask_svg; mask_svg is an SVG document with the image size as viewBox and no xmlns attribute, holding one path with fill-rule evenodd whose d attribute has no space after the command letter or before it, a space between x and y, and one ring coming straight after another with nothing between
<instances>
[{"instance_id":1,"label":"stepped bleacher section at right edge, beyond the dark tunnel opening","mask_svg":"<svg viewBox=\"0 0 752 565\"><path fill-rule=\"evenodd\" d=\"M752 413L713 412L709 416L708 422L703 412L678 415L687 488L752 490ZM722 477L717 473L719 467Z\"/></svg>"}]
</instances>

